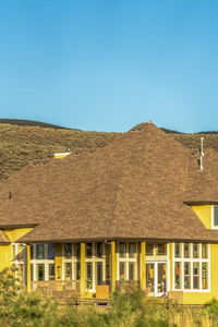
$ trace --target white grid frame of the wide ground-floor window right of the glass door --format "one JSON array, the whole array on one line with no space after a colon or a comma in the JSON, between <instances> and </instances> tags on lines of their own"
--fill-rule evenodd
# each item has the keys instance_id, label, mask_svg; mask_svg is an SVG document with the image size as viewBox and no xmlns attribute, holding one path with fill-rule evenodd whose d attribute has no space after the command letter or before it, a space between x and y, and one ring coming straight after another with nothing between
<instances>
[{"instance_id":1,"label":"white grid frame of the wide ground-floor window right of the glass door","mask_svg":"<svg viewBox=\"0 0 218 327\"><path fill-rule=\"evenodd\" d=\"M174 257L174 244L172 243L172 290L173 291L183 291L183 292L201 292L201 293L208 293L210 292L210 244L207 244L208 251L208 258L202 258L202 243L199 244L199 257L193 257L193 243L190 244L191 256L190 258L184 257L184 243L181 244L181 257ZM181 289L175 289L174 287L174 263L181 263L181 272L182 272L182 286ZM191 263L191 288L184 289L184 263ZM199 263L199 289L193 289L193 263ZM208 288L202 289L202 264L208 264Z\"/></svg>"}]
</instances>

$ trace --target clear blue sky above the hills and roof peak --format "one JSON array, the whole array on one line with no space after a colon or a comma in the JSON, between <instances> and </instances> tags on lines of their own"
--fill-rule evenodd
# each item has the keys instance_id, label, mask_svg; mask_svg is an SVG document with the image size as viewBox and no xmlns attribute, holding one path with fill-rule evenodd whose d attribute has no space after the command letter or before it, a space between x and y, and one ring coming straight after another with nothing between
<instances>
[{"instance_id":1,"label":"clear blue sky above the hills and roof peak","mask_svg":"<svg viewBox=\"0 0 218 327\"><path fill-rule=\"evenodd\" d=\"M0 118L218 130L218 1L0 0Z\"/></svg>"}]
</instances>

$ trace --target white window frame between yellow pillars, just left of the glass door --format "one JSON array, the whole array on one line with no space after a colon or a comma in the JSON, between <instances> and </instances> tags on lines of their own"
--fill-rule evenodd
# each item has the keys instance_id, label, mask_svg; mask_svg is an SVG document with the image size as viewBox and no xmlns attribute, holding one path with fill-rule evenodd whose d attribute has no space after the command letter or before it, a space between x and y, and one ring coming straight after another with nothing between
<instances>
[{"instance_id":1,"label":"white window frame between yellow pillars, just left of the glass door","mask_svg":"<svg viewBox=\"0 0 218 327\"><path fill-rule=\"evenodd\" d=\"M120 257L120 253L119 253L119 246L120 243L125 243L126 246L126 256L125 257ZM130 243L135 243L136 246L136 252L135 252L135 257L130 257L130 252L129 252L129 246ZM134 241L130 241L130 242L118 242L118 251L117 251L117 280L120 280L120 263L125 263L126 265L126 269L125 269L125 279L124 280L130 280L129 279L129 263L135 263L135 276L133 280L137 280L137 242Z\"/></svg>"}]
</instances>

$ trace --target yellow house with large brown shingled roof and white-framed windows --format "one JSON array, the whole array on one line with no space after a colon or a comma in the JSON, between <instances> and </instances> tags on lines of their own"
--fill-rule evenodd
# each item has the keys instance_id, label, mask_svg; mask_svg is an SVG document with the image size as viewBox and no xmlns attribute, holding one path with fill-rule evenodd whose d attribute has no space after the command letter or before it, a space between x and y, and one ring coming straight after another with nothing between
<instances>
[{"instance_id":1,"label":"yellow house with large brown shingled roof and white-framed windows","mask_svg":"<svg viewBox=\"0 0 218 327\"><path fill-rule=\"evenodd\" d=\"M28 290L100 296L135 281L183 303L218 298L217 162L146 123L29 165L1 183L0 269L15 265Z\"/></svg>"}]
</instances>

